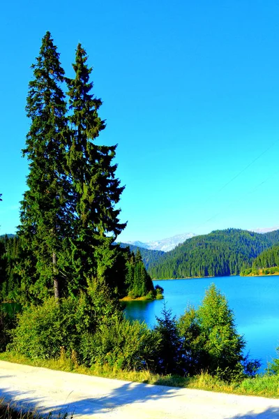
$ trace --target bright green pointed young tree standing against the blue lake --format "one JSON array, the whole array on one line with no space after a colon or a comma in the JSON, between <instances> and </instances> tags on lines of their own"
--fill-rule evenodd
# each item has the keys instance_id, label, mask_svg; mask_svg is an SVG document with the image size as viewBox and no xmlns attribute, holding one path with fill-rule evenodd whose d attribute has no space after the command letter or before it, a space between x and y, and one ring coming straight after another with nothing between
<instances>
[{"instance_id":1,"label":"bright green pointed young tree standing against the blue lake","mask_svg":"<svg viewBox=\"0 0 279 419\"><path fill-rule=\"evenodd\" d=\"M179 330L190 374L203 370L227 381L243 374L245 341L236 332L234 314L225 296L214 284L197 310L190 307L181 316Z\"/></svg>"}]
</instances>

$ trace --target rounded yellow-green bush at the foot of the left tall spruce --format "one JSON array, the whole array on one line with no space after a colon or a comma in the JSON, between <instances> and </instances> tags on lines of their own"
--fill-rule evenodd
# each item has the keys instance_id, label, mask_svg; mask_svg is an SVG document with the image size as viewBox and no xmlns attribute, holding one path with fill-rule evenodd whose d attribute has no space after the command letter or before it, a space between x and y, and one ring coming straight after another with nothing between
<instances>
[{"instance_id":1,"label":"rounded yellow-green bush at the foot of the left tall spruce","mask_svg":"<svg viewBox=\"0 0 279 419\"><path fill-rule=\"evenodd\" d=\"M56 358L61 347L70 355L78 350L81 335L93 329L95 323L84 295L79 299L62 299L59 304L50 298L40 306L27 307L18 315L18 325L8 348L33 359Z\"/></svg>"}]
</instances>

